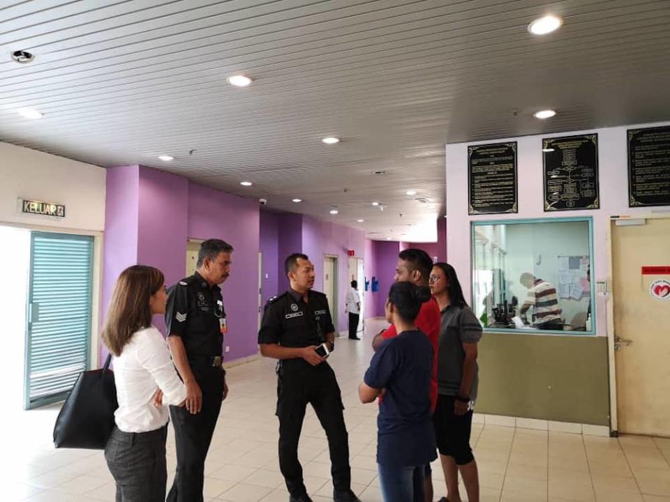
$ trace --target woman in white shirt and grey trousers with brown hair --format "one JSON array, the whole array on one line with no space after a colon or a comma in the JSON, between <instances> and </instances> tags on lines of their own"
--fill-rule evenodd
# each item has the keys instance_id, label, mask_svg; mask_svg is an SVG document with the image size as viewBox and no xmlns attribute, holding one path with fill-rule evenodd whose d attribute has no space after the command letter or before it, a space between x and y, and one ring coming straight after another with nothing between
<instances>
[{"instance_id":1,"label":"woman in white shirt and grey trousers with brown hair","mask_svg":"<svg viewBox=\"0 0 670 502\"><path fill-rule=\"evenodd\" d=\"M116 502L164 502L168 469L168 404L182 406L186 387L174 370L163 335L151 317L165 314L165 277L135 265L114 286L103 341L114 355L119 408L105 448L117 483Z\"/></svg>"}]
</instances>

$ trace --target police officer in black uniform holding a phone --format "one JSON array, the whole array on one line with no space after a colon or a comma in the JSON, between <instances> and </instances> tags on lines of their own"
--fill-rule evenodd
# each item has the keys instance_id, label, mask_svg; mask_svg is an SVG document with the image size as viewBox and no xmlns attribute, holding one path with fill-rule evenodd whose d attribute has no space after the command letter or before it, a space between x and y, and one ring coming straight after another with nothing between
<instances>
[{"instance_id":1,"label":"police officer in black uniform holding a phone","mask_svg":"<svg viewBox=\"0 0 670 502\"><path fill-rule=\"evenodd\" d=\"M334 499L357 502L351 491L349 443L342 398L335 373L316 349L326 343L334 349L335 328L328 301L312 291L314 266L305 254L291 254L285 261L290 289L271 298L258 333L260 353L279 360L277 411L279 418L279 467L290 493L290 502L311 502L298 461L298 440L308 403L314 408L328 437Z\"/></svg>"}]
</instances>

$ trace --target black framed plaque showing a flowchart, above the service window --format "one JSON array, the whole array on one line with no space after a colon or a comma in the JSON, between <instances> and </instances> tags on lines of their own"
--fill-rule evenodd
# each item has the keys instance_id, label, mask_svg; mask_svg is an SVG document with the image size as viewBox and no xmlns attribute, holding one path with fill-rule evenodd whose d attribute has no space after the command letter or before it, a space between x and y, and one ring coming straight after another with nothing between
<instances>
[{"instance_id":1,"label":"black framed plaque showing a flowchart, above the service window","mask_svg":"<svg viewBox=\"0 0 670 502\"><path fill-rule=\"evenodd\" d=\"M542 139L544 211L600 208L598 135Z\"/></svg>"}]
</instances>

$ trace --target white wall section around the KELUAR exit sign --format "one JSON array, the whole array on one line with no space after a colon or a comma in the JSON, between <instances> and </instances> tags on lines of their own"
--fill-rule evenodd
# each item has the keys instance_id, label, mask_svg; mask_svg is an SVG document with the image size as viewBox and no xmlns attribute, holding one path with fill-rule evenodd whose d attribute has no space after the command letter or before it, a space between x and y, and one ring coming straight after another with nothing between
<instances>
[{"instance_id":1,"label":"white wall section around the KELUAR exit sign","mask_svg":"<svg viewBox=\"0 0 670 502\"><path fill-rule=\"evenodd\" d=\"M66 216L23 214L20 198L65 204ZM103 231L105 169L0 143L0 222Z\"/></svg>"}]
</instances>

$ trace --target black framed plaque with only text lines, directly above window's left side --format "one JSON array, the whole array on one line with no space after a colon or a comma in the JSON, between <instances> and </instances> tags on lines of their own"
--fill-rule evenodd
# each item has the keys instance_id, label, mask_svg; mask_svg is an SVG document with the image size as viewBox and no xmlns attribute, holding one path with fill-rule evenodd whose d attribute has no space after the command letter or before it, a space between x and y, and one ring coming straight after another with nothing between
<instances>
[{"instance_id":1,"label":"black framed plaque with only text lines, directly above window's left side","mask_svg":"<svg viewBox=\"0 0 670 502\"><path fill-rule=\"evenodd\" d=\"M468 214L518 213L516 142L468 146Z\"/></svg>"}]
</instances>

